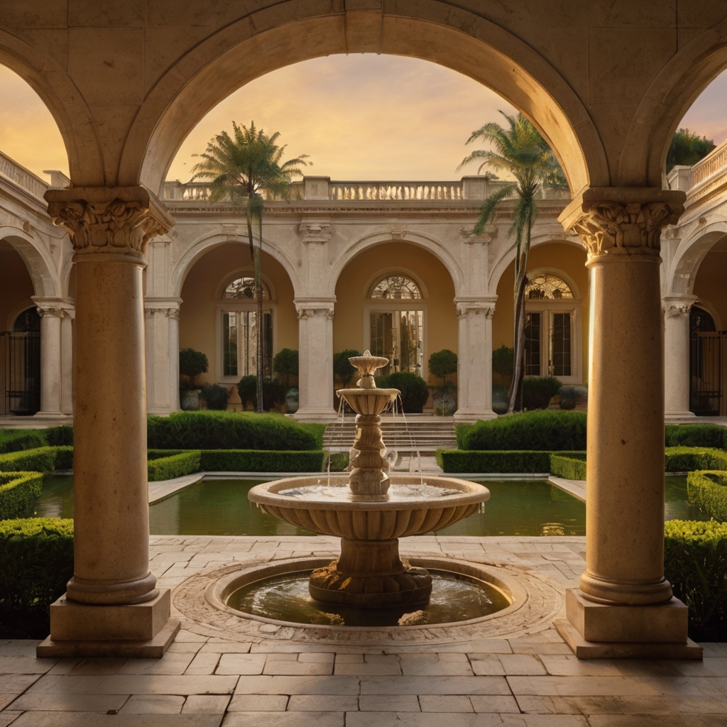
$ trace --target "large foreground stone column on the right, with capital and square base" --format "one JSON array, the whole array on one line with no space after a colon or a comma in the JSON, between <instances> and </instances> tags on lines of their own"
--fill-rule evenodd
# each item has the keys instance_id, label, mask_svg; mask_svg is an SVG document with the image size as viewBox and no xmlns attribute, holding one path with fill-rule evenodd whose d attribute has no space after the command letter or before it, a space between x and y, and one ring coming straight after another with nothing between
<instances>
[{"instance_id":1,"label":"large foreground stone column on the right, with capital and square base","mask_svg":"<svg viewBox=\"0 0 727 727\"><path fill-rule=\"evenodd\" d=\"M659 236L683 200L683 192L592 188L561 215L587 246L595 295L586 569L566 595L569 622L556 624L578 656L701 655L690 651L686 606L664 579Z\"/></svg>"}]
</instances>

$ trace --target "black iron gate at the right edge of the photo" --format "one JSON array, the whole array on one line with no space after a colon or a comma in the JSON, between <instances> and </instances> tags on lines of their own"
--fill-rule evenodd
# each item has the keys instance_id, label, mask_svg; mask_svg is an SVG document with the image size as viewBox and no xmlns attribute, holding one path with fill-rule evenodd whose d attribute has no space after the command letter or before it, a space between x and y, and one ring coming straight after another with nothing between
<instances>
[{"instance_id":1,"label":"black iron gate at the right edge of the photo","mask_svg":"<svg viewBox=\"0 0 727 727\"><path fill-rule=\"evenodd\" d=\"M719 417L724 389L727 332L693 332L689 347L689 409L699 417Z\"/></svg>"}]
</instances>

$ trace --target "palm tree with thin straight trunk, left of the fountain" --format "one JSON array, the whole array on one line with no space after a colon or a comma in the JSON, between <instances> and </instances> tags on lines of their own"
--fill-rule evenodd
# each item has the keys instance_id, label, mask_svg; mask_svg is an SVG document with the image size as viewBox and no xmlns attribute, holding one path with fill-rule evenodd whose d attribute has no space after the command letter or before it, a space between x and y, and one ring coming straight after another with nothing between
<instances>
[{"instance_id":1,"label":"palm tree with thin straight trunk, left of the fountain","mask_svg":"<svg viewBox=\"0 0 727 727\"><path fill-rule=\"evenodd\" d=\"M308 164L308 154L282 162L285 146L278 145L280 132L268 136L255 128L232 122L233 137L222 131L212 137L207 150L201 156L204 161L196 164L193 180L211 179L210 201L227 199L232 204L245 207L247 241L254 265L255 293L257 297L257 410L262 412L262 282L260 281L260 257L262 253L262 212L265 206L262 192L270 198L288 198L292 177L302 176L301 166ZM258 225L258 245L254 244L253 222Z\"/></svg>"}]
</instances>

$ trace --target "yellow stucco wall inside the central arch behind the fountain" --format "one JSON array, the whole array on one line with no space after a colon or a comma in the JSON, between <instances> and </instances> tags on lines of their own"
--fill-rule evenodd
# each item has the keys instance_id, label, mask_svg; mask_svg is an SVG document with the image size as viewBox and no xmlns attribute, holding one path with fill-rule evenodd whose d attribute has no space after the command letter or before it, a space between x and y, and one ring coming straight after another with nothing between
<instances>
[{"instance_id":1,"label":"yellow stucco wall inside the central arch behind the fountain","mask_svg":"<svg viewBox=\"0 0 727 727\"><path fill-rule=\"evenodd\" d=\"M433 254L417 245L389 242L358 254L342 270L336 285L336 317L333 321L334 353L346 348L363 351L370 342L364 340L364 306L369 286L379 273L414 273L425 290L424 363L434 351L449 348L457 353L457 313L454 307L454 284L449 272ZM412 310L417 308L412 301ZM456 379L453 379L456 380ZM430 377L430 384L441 384Z\"/></svg>"}]
</instances>

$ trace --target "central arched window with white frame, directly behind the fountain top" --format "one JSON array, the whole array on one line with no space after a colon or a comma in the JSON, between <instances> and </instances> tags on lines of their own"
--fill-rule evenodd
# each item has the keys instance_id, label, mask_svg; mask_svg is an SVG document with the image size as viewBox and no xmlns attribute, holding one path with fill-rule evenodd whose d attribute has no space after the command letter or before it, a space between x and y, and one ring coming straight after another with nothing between
<instances>
[{"instance_id":1,"label":"central arched window with white frame, directly behind the fountain top","mask_svg":"<svg viewBox=\"0 0 727 727\"><path fill-rule=\"evenodd\" d=\"M422 376L424 310L419 285L402 273L390 273L371 287L369 298L369 350L389 359L382 374L411 371Z\"/></svg>"}]
</instances>

